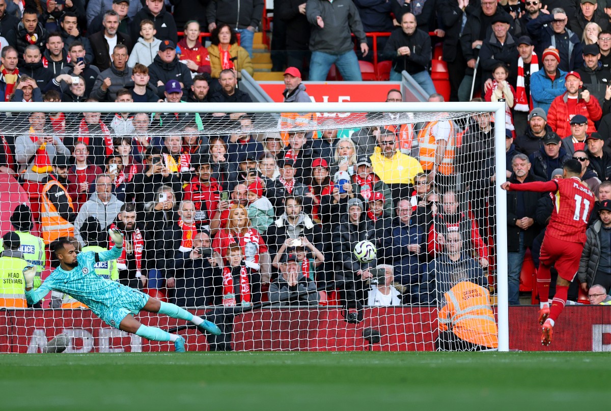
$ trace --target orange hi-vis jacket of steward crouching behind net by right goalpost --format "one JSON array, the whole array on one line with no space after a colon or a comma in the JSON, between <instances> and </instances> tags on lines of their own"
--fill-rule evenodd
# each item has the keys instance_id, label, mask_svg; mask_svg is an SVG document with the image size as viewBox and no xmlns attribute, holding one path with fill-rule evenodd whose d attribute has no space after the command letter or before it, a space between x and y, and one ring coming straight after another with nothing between
<instances>
[{"instance_id":1,"label":"orange hi-vis jacket of steward crouching behind net by right goalpost","mask_svg":"<svg viewBox=\"0 0 611 411\"><path fill-rule=\"evenodd\" d=\"M499 330L487 289L472 282L459 282L445 293L445 301L439 311L440 330L451 329L469 343L499 347Z\"/></svg>"}]
</instances>

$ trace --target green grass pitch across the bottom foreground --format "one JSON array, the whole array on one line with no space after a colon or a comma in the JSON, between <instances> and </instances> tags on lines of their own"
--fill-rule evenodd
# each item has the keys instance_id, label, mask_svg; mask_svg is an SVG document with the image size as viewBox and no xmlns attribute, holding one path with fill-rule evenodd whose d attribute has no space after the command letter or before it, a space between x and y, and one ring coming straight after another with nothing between
<instances>
[{"instance_id":1,"label":"green grass pitch across the bottom foreground","mask_svg":"<svg viewBox=\"0 0 611 411\"><path fill-rule=\"evenodd\" d=\"M606 409L610 366L591 352L3 354L0 409Z\"/></svg>"}]
</instances>

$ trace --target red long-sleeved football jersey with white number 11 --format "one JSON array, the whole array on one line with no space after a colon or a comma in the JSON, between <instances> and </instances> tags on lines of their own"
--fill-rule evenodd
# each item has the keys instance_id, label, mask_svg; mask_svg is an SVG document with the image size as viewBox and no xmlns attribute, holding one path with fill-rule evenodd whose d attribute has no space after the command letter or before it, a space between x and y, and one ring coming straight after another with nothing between
<instances>
[{"instance_id":1,"label":"red long-sleeved football jersey with white number 11","mask_svg":"<svg viewBox=\"0 0 611 411\"><path fill-rule=\"evenodd\" d=\"M585 244L585 230L596 198L577 177L546 182L511 184L511 191L537 191L554 193L554 211L545 235L562 241Z\"/></svg>"}]
</instances>

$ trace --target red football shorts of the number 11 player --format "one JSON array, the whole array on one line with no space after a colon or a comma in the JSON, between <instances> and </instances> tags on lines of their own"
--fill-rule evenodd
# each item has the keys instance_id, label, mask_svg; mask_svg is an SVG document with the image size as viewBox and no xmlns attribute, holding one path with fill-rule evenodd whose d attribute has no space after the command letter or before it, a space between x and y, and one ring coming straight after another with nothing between
<instances>
[{"instance_id":1,"label":"red football shorts of the number 11 player","mask_svg":"<svg viewBox=\"0 0 611 411\"><path fill-rule=\"evenodd\" d=\"M554 266L560 277L572 282L579 269L579 260L583 251L584 244L562 241L546 235L541 245L539 261L546 266Z\"/></svg>"}]
</instances>

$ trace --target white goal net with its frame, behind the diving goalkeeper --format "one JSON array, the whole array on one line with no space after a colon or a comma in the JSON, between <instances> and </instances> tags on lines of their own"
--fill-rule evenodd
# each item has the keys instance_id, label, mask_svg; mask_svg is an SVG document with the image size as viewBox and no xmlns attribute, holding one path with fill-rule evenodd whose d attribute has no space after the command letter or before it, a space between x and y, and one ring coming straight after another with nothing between
<instances>
[{"instance_id":1,"label":"white goal net with its frame, behind the diving goalkeeper","mask_svg":"<svg viewBox=\"0 0 611 411\"><path fill-rule=\"evenodd\" d=\"M28 303L25 264L36 289L61 263L49 244L103 252L109 228L125 236L122 254L95 274L221 329L134 313L184 336L188 351L506 351L497 109L2 107L0 352L46 352L59 334L65 352L174 349L106 324L61 289Z\"/></svg>"}]
</instances>

